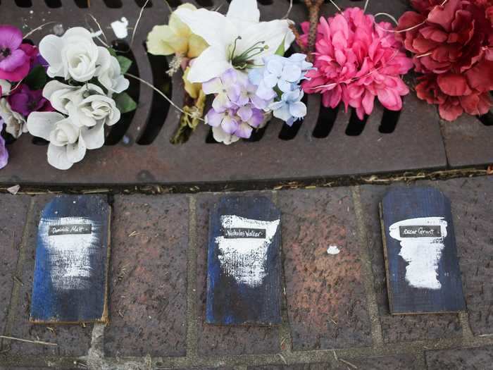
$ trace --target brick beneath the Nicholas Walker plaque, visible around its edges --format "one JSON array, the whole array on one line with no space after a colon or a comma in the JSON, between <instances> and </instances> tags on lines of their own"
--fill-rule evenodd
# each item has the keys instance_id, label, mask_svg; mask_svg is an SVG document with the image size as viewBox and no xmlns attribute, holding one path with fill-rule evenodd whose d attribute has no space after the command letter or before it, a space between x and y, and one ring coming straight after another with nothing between
<instances>
[{"instance_id":1,"label":"brick beneath the Nicholas Walker plaque, visible around its edges","mask_svg":"<svg viewBox=\"0 0 493 370\"><path fill-rule=\"evenodd\" d=\"M260 193L270 197L269 192ZM228 194L231 195L231 194ZM245 196L259 195L247 192ZM204 323L206 310L208 215L220 195L199 195L196 199L197 297L199 353L264 354L280 351L277 328L258 326L212 326Z\"/></svg>"}]
</instances>

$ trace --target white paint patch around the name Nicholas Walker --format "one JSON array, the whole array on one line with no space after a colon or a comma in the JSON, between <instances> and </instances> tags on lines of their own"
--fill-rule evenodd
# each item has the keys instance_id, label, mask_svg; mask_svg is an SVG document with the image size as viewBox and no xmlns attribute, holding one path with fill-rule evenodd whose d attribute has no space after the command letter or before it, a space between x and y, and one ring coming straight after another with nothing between
<instances>
[{"instance_id":1,"label":"white paint patch around the name Nicholas Walker","mask_svg":"<svg viewBox=\"0 0 493 370\"><path fill-rule=\"evenodd\" d=\"M250 235L243 238L218 236L221 269L235 278L238 283L255 288L261 285L267 271L267 251L272 243L280 220L259 221L234 215L221 216L223 230L236 230L230 235ZM260 237L255 235L261 230ZM253 237L251 235L254 235Z\"/></svg>"}]
</instances>

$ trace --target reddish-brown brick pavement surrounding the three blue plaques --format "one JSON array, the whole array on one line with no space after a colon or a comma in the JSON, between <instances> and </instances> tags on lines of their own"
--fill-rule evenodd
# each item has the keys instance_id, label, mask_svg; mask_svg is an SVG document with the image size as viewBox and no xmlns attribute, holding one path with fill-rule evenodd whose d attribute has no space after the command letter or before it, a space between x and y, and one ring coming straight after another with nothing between
<instances>
[{"instance_id":1,"label":"reddish-brown brick pavement surrounding the three blue plaques","mask_svg":"<svg viewBox=\"0 0 493 370\"><path fill-rule=\"evenodd\" d=\"M52 195L1 194L0 331L58 345L4 339L0 370L491 369L493 177L404 186L413 185L451 199L467 312L389 314L377 214L389 186L244 192L282 211L286 295L276 328L204 323L208 211L225 193L116 195L111 323L32 325L37 220ZM329 245L341 252L327 254Z\"/></svg>"}]
</instances>

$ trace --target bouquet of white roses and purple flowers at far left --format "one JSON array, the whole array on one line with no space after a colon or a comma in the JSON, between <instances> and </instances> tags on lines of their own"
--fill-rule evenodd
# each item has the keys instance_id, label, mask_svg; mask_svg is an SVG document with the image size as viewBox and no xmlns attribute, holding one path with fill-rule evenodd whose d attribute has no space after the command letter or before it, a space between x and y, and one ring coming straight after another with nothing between
<instances>
[{"instance_id":1,"label":"bouquet of white roses and purple flowers at far left","mask_svg":"<svg viewBox=\"0 0 493 370\"><path fill-rule=\"evenodd\" d=\"M123 73L132 61L94 42L89 30L70 28L48 35L39 47L23 41L20 30L0 26L0 118L3 135L23 133L49 142L51 166L66 170L87 150L103 146L106 125L136 108ZM7 163L4 137L0 166Z\"/></svg>"}]
</instances>

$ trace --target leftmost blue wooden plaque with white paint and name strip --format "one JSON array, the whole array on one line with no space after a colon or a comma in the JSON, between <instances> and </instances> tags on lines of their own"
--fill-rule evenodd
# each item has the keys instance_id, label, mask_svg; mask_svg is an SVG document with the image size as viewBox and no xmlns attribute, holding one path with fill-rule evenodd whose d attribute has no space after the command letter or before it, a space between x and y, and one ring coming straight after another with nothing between
<instances>
[{"instance_id":1,"label":"leftmost blue wooden plaque with white paint and name strip","mask_svg":"<svg viewBox=\"0 0 493 370\"><path fill-rule=\"evenodd\" d=\"M30 321L108 322L111 208L98 195L61 195L38 226Z\"/></svg>"}]
</instances>

